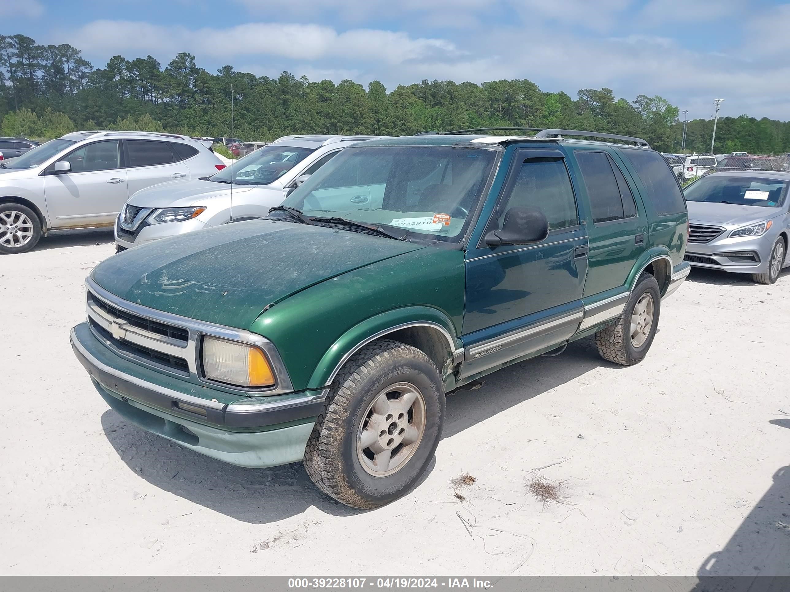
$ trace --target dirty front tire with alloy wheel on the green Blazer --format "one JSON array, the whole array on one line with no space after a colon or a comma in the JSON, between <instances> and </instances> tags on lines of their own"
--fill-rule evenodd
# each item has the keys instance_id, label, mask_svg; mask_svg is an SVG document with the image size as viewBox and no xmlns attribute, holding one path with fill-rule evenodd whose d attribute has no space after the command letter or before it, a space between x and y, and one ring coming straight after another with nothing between
<instances>
[{"instance_id":1,"label":"dirty front tire with alloy wheel on the green Blazer","mask_svg":"<svg viewBox=\"0 0 790 592\"><path fill-rule=\"evenodd\" d=\"M434 456L444 422L442 378L415 347L378 339L344 365L305 450L324 493L352 508L404 496Z\"/></svg>"}]
</instances>

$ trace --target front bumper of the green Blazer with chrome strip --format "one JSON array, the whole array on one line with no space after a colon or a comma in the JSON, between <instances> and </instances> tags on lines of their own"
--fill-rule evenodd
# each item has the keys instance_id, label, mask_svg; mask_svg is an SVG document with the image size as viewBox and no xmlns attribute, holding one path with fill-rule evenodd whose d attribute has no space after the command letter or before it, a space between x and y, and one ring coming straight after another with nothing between
<instances>
[{"instance_id":1,"label":"front bumper of the green Blazer with chrome strip","mask_svg":"<svg viewBox=\"0 0 790 592\"><path fill-rule=\"evenodd\" d=\"M229 399L227 392L195 388L121 358L87 323L71 330L70 341L96 390L123 418L226 463L263 467L301 460L323 410L325 390Z\"/></svg>"}]
</instances>

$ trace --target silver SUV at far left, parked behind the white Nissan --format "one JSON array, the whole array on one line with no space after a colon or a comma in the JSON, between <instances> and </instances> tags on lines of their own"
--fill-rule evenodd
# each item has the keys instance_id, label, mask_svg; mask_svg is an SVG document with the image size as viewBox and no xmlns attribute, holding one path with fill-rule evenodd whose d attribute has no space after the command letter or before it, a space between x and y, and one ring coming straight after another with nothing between
<instances>
[{"instance_id":1,"label":"silver SUV at far left, parked behind the white Nissan","mask_svg":"<svg viewBox=\"0 0 790 592\"><path fill-rule=\"evenodd\" d=\"M224 167L200 141L169 133L68 133L0 162L0 253L24 253L49 230L109 227L130 195Z\"/></svg>"}]
</instances>

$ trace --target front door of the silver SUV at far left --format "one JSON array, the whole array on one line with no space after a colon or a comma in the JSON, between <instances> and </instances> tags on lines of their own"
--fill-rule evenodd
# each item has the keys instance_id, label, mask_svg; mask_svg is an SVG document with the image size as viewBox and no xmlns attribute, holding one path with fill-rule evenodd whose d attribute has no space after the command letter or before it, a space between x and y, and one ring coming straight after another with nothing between
<instances>
[{"instance_id":1,"label":"front door of the silver SUV at far left","mask_svg":"<svg viewBox=\"0 0 790 592\"><path fill-rule=\"evenodd\" d=\"M118 140L85 144L61 161L67 173L43 174L44 198L53 228L102 226L115 221L129 194Z\"/></svg>"}]
</instances>

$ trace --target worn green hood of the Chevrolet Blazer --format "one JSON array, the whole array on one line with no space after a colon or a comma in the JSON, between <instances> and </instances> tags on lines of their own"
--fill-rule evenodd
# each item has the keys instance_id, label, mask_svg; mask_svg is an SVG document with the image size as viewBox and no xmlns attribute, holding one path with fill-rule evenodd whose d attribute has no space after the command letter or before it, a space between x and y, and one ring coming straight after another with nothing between
<instances>
[{"instance_id":1,"label":"worn green hood of the Chevrolet Blazer","mask_svg":"<svg viewBox=\"0 0 790 592\"><path fill-rule=\"evenodd\" d=\"M263 309L296 292L424 247L348 230L261 219L123 251L97 265L91 277L130 302L248 329Z\"/></svg>"}]
</instances>

